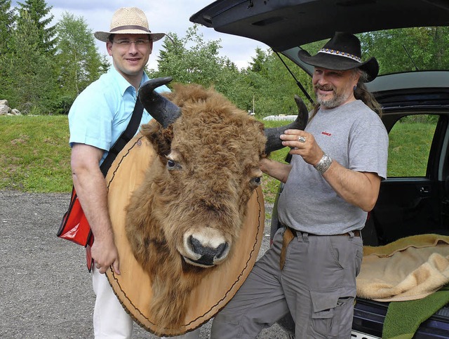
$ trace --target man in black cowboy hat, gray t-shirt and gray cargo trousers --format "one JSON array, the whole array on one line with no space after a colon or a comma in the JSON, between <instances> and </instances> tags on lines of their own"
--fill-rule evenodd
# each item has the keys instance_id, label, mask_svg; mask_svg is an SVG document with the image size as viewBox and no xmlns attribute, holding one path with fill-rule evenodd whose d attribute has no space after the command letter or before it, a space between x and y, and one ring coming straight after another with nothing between
<instances>
[{"instance_id":1,"label":"man in black cowboy hat, gray t-shirt and gray cargo trousers","mask_svg":"<svg viewBox=\"0 0 449 339\"><path fill-rule=\"evenodd\" d=\"M387 176L387 131L363 84L379 67L375 58L362 62L360 41L344 32L316 55L299 57L315 67L317 105L304 131L281 135L291 163L260 164L285 183L278 201L283 228L215 317L211 338L256 338L289 313L297 339L351 338L360 231Z\"/></svg>"}]
</instances>

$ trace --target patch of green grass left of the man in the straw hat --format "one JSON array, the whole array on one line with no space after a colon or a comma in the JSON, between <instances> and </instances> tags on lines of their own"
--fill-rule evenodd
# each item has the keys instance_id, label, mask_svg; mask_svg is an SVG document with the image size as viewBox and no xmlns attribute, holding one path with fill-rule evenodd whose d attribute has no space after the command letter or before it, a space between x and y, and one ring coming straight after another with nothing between
<instances>
[{"instance_id":1,"label":"patch of green grass left of the man in the straw hat","mask_svg":"<svg viewBox=\"0 0 449 339\"><path fill-rule=\"evenodd\" d=\"M67 116L0 117L0 189L70 192Z\"/></svg>"}]
</instances>

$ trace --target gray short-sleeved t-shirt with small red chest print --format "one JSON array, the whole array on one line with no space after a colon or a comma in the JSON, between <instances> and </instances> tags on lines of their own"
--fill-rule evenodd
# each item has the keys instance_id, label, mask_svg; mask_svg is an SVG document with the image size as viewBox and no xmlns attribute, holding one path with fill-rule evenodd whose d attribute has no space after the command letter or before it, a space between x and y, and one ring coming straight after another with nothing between
<instances>
[{"instance_id":1,"label":"gray short-sleeved t-shirt with small red chest print","mask_svg":"<svg viewBox=\"0 0 449 339\"><path fill-rule=\"evenodd\" d=\"M320 109L305 131L345 168L387 178L388 133L380 118L361 100ZM344 201L302 157L293 165L279 197L279 220L310 234L332 235L361 230L367 213Z\"/></svg>"}]
</instances>

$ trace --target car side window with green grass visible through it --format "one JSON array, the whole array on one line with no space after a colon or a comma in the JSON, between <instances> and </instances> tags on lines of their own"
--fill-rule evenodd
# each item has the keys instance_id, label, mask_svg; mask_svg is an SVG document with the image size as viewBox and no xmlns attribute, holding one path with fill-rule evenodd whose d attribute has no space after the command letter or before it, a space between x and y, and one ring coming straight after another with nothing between
<instances>
[{"instance_id":1,"label":"car side window with green grass visible through it","mask_svg":"<svg viewBox=\"0 0 449 339\"><path fill-rule=\"evenodd\" d=\"M402 117L389 132L388 170L391 177L425 177L438 115Z\"/></svg>"}]
</instances>

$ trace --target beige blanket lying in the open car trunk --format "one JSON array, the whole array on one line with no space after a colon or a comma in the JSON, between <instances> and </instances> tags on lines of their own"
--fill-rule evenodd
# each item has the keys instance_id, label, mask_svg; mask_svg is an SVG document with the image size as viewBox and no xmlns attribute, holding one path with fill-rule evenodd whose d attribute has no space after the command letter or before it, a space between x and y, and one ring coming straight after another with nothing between
<instances>
[{"instance_id":1,"label":"beige blanket lying in the open car trunk","mask_svg":"<svg viewBox=\"0 0 449 339\"><path fill-rule=\"evenodd\" d=\"M422 234L364 246L357 295L379 301L424 298L449 283L449 237Z\"/></svg>"}]
</instances>

